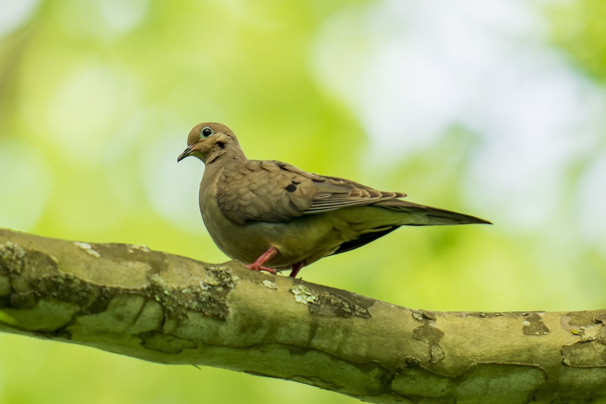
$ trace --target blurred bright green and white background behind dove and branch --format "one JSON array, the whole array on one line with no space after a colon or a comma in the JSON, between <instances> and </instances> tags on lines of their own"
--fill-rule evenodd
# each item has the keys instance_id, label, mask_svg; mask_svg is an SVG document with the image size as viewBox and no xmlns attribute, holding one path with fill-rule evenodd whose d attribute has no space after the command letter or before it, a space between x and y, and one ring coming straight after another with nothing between
<instances>
[{"instance_id":1,"label":"blurred bright green and white background behind dove and branch","mask_svg":"<svg viewBox=\"0 0 606 404\"><path fill-rule=\"evenodd\" d=\"M279 159L494 226L403 228L304 268L429 310L606 303L606 5L0 1L0 226L226 257L202 121ZM279 308L276 308L279 310ZM0 335L1 403L353 403L293 382Z\"/></svg>"}]
</instances>

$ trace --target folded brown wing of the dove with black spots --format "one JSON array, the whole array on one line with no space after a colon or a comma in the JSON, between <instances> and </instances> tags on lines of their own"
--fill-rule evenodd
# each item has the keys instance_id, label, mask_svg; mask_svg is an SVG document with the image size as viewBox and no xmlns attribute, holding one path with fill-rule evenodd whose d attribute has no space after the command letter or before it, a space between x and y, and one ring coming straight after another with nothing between
<instances>
[{"instance_id":1,"label":"folded brown wing of the dove with black spots","mask_svg":"<svg viewBox=\"0 0 606 404\"><path fill-rule=\"evenodd\" d=\"M299 170L279 161L245 160L226 165L217 187L217 202L238 224L279 223L305 214L373 204L405 194L381 192L357 182Z\"/></svg>"}]
</instances>

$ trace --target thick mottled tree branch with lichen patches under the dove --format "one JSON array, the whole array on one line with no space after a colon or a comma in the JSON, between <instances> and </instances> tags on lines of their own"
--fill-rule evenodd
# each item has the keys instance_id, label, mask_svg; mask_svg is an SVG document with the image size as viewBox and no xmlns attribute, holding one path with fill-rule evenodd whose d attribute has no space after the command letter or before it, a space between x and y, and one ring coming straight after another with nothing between
<instances>
[{"instance_id":1,"label":"thick mottled tree branch with lichen patches under the dove","mask_svg":"<svg viewBox=\"0 0 606 404\"><path fill-rule=\"evenodd\" d=\"M0 229L0 331L369 402L604 400L605 322L606 310L413 310L237 262Z\"/></svg>"}]
</instances>

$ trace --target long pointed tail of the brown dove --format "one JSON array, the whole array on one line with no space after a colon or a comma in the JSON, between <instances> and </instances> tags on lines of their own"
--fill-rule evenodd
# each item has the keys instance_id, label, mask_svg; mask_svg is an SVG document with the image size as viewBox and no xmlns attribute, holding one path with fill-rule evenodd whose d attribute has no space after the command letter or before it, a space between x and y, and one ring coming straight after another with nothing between
<instances>
[{"instance_id":1,"label":"long pointed tail of the brown dove","mask_svg":"<svg viewBox=\"0 0 606 404\"><path fill-rule=\"evenodd\" d=\"M401 199L390 199L373 204L376 207L407 213L402 215L402 226L492 224L488 220L450 210L414 204Z\"/></svg>"}]
</instances>

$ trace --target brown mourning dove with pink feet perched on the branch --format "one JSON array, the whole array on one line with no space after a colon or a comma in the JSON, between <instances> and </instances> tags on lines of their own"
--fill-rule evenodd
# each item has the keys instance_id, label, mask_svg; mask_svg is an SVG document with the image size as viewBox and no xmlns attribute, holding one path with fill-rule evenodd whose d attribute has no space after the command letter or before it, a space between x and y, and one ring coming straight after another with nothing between
<instances>
[{"instance_id":1,"label":"brown mourning dove with pink feet perched on the branch","mask_svg":"<svg viewBox=\"0 0 606 404\"><path fill-rule=\"evenodd\" d=\"M402 200L358 182L309 173L276 160L249 160L230 128L198 124L177 161L205 164L199 188L202 220L228 257L276 274L345 253L400 226L491 224L467 214Z\"/></svg>"}]
</instances>

